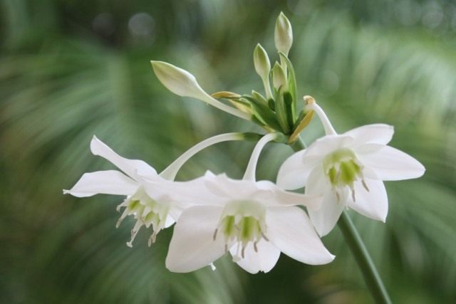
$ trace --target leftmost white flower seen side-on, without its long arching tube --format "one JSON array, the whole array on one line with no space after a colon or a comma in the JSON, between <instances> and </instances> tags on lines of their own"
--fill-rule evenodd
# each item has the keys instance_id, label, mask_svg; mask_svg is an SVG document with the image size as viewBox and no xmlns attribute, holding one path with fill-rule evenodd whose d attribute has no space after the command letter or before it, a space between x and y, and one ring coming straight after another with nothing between
<instances>
[{"instance_id":1,"label":"leftmost white flower seen side-on, without its long arching tube","mask_svg":"<svg viewBox=\"0 0 456 304\"><path fill-rule=\"evenodd\" d=\"M142 160L126 159L116 154L103 142L93 137L90 142L90 150L93 154L99 155L115 164L125 174L115 170L98 171L85 173L70 190L63 190L64 194L71 194L78 197L93 196L95 194L117 194L125 195L127 198L117 209L125 208L116 227L128 215L136 219L135 226L131 231L132 242L142 226L152 226L153 233L149 239L149 246L155 241L160 230L175 223L182 212L181 206L173 201L172 182L168 182L157 175L155 169ZM140 172L140 174L138 173ZM144 189L144 177L148 179L148 189L153 188L153 194L148 195Z\"/></svg>"}]
</instances>

